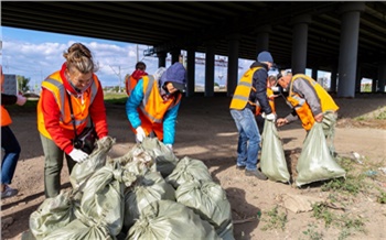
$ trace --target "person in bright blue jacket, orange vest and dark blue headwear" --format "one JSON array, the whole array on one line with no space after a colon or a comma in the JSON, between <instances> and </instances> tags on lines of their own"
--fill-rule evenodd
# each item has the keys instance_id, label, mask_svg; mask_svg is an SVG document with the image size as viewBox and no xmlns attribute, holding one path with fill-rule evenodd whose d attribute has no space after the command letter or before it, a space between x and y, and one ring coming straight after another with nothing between
<instances>
[{"instance_id":1,"label":"person in bright blue jacket, orange vest and dark blue headwear","mask_svg":"<svg viewBox=\"0 0 386 240\"><path fill-rule=\"evenodd\" d=\"M171 150L174 144L175 121L186 85L185 67L176 62L168 69L159 68L154 75L143 76L126 102L126 113L142 142L153 133Z\"/></svg>"}]
</instances>

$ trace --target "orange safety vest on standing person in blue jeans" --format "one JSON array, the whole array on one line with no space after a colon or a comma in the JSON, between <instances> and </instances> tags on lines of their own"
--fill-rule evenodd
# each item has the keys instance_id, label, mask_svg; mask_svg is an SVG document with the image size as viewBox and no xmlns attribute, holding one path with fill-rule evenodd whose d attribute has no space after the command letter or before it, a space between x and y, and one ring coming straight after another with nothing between
<instances>
[{"instance_id":1,"label":"orange safety vest on standing person in blue jeans","mask_svg":"<svg viewBox=\"0 0 386 240\"><path fill-rule=\"evenodd\" d=\"M230 101L230 109L237 109L242 110L247 106L247 102L249 102L253 106L256 106L256 102L249 101L249 95L250 90L256 91L256 89L251 86L251 81L254 78L254 73L261 67L254 67L249 68L240 80L238 81L238 85L235 89L235 94L233 95L232 101Z\"/></svg>"}]
</instances>

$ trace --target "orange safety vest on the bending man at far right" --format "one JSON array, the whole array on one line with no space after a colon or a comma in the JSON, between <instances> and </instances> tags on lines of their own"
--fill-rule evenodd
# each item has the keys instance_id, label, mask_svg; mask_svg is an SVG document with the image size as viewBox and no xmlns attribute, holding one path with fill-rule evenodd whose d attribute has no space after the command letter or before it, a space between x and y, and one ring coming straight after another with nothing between
<instances>
[{"instance_id":1,"label":"orange safety vest on the bending man at far right","mask_svg":"<svg viewBox=\"0 0 386 240\"><path fill-rule=\"evenodd\" d=\"M304 75L304 74L297 74L291 79L291 86L289 90L289 95L287 97L287 100L291 103L291 106L297 111L300 121L302 123L303 129L307 131L310 130L315 122L315 119L313 118L313 113L311 111L310 106L307 103L305 99L300 97L298 94L292 91L293 81L298 78L303 78L308 80L311 86L314 88L320 101L321 101L321 108L322 112L325 111L336 111L339 107L336 106L335 101L332 99L332 97L324 90L324 88L318 84L315 80L313 80L311 77Z\"/></svg>"}]
</instances>

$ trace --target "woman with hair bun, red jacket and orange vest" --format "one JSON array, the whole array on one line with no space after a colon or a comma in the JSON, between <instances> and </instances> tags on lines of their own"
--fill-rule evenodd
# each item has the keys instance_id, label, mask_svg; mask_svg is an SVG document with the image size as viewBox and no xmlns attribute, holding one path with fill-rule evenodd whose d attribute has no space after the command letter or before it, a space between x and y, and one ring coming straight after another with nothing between
<instances>
[{"instance_id":1,"label":"woman with hair bun, red jacket and orange vest","mask_svg":"<svg viewBox=\"0 0 386 240\"><path fill-rule=\"evenodd\" d=\"M93 123L99 139L108 134L104 92L94 74L97 68L90 51L75 43L63 56L66 62L62 68L42 83L37 102L37 130L45 156L46 197L60 194L63 153L69 173L76 162L82 163L88 157L87 153L73 145L75 131L78 135Z\"/></svg>"}]
</instances>

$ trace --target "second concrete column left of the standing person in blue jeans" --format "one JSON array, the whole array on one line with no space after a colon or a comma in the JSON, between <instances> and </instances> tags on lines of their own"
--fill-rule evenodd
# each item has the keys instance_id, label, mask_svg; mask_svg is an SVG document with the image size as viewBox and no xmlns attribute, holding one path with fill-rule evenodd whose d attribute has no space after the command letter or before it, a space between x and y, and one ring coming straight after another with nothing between
<instances>
[{"instance_id":1,"label":"second concrete column left of the standing person in blue jeans","mask_svg":"<svg viewBox=\"0 0 386 240\"><path fill-rule=\"evenodd\" d=\"M205 97L214 95L214 41L206 42L205 53Z\"/></svg>"}]
</instances>

